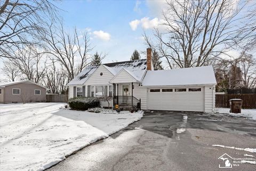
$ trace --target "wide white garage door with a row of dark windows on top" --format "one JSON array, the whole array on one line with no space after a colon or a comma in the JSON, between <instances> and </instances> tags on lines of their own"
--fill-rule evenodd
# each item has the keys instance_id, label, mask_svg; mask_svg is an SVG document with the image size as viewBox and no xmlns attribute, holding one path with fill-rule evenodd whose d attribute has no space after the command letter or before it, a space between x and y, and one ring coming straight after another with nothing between
<instances>
[{"instance_id":1,"label":"wide white garage door with a row of dark windows on top","mask_svg":"<svg viewBox=\"0 0 256 171\"><path fill-rule=\"evenodd\" d=\"M204 87L149 88L148 109L204 111Z\"/></svg>"}]
</instances>

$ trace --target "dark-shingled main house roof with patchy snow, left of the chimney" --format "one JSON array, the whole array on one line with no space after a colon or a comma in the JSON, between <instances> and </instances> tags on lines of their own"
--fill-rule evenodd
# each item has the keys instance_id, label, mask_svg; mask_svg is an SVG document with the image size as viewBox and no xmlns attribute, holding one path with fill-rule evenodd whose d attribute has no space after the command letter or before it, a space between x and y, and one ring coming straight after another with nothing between
<instances>
[{"instance_id":1,"label":"dark-shingled main house roof with patchy snow, left of the chimney","mask_svg":"<svg viewBox=\"0 0 256 171\"><path fill-rule=\"evenodd\" d=\"M82 72L80 72L71 82L67 85L82 85L86 80L93 74L98 66L87 66ZM102 64L111 74L114 76L118 74L122 69L125 69L135 79L142 80L143 75L147 70L147 59L124 61L124 62L113 62Z\"/></svg>"}]
</instances>

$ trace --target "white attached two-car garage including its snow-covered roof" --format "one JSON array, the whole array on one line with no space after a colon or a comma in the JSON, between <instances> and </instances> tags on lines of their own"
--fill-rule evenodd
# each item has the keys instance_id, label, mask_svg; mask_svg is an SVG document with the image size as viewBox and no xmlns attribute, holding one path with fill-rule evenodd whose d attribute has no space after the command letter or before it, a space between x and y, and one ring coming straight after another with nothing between
<instances>
[{"instance_id":1,"label":"white attached two-car garage including its snow-covered roof","mask_svg":"<svg viewBox=\"0 0 256 171\"><path fill-rule=\"evenodd\" d=\"M211 66L147 71L148 110L212 112L216 80Z\"/></svg>"}]
</instances>

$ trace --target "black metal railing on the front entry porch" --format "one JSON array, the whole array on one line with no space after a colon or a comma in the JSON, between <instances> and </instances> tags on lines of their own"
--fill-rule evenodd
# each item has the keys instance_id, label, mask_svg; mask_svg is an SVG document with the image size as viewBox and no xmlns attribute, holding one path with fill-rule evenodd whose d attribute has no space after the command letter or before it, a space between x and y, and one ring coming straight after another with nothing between
<instances>
[{"instance_id":1,"label":"black metal railing on the front entry porch","mask_svg":"<svg viewBox=\"0 0 256 171\"><path fill-rule=\"evenodd\" d=\"M130 107L135 107L141 110L140 105L141 105L141 100L137 99L134 96L114 96L114 105L118 104L119 106L130 106Z\"/></svg>"}]
</instances>

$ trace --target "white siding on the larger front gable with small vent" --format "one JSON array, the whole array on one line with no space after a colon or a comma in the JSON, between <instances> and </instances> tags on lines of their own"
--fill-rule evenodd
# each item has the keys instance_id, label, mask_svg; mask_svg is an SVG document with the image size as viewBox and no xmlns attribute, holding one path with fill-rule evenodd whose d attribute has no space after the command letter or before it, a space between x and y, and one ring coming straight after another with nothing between
<instances>
[{"instance_id":1,"label":"white siding on the larger front gable with small vent","mask_svg":"<svg viewBox=\"0 0 256 171\"><path fill-rule=\"evenodd\" d=\"M102 76L100 73L102 72ZM110 85L109 81L114 77L109 70L107 70L105 67L100 66L95 72L89 77L85 85Z\"/></svg>"}]
</instances>

